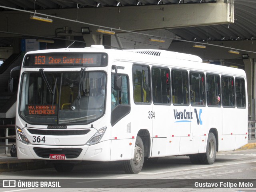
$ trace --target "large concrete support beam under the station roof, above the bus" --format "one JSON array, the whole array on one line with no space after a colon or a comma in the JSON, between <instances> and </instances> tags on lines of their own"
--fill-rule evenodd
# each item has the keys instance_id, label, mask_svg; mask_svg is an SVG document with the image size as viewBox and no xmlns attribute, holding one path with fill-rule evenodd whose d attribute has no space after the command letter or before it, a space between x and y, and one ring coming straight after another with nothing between
<instances>
[{"instance_id":1,"label":"large concrete support beam under the station roof, above the bus","mask_svg":"<svg viewBox=\"0 0 256 192\"><path fill-rule=\"evenodd\" d=\"M15 14L13 14L14 12ZM234 22L234 0L219 0L216 3L200 4L118 6L68 10L37 10L36 12L116 29L144 31ZM80 28L85 27L85 24L57 18L52 18L54 20L52 24L45 24L30 20L29 14L17 13L17 11L0 13L0 20L3 21L2 31L54 36L56 28L68 26L72 33L60 35L74 36L80 35ZM89 27L92 33L95 33L97 27ZM10 35L0 34L1 36L6 37Z\"/></svg>"}]
</instances>

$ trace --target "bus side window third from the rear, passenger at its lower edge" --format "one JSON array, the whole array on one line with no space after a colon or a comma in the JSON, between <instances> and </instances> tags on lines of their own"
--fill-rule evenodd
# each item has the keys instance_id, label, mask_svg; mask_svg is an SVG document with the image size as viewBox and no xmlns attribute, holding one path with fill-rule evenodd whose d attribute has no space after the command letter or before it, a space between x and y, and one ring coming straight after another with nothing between
<instances>
[{"instance_id":1,"label":"bus side window third from the rear, passenger at its lower edge","mask_svg":"<svg viewBox=\"0 0 256 192\"><path fill-rule=\"evenodd\" d=\"M206 96L208 106L220 106L220 76L206 74Z\"/></svg>"}]
</instances>

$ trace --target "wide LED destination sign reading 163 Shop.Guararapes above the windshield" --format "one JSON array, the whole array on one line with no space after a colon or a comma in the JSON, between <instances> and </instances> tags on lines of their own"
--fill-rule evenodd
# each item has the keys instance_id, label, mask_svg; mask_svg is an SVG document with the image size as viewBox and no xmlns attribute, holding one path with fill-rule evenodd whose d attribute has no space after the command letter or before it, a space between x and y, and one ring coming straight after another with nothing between
<instances>
[{"instance_id":1,"label":"wide LED destination sign reading 163 Shop.Guararapes above the windshield","mask_svg":"<svg viewBox=\"0 0 256 192\"><path fill-rule=\"evenodd\" d=\"M106 53L39 53L26 55L25 67L100 67L108 63Z\"/></svg>"}]
</instances>

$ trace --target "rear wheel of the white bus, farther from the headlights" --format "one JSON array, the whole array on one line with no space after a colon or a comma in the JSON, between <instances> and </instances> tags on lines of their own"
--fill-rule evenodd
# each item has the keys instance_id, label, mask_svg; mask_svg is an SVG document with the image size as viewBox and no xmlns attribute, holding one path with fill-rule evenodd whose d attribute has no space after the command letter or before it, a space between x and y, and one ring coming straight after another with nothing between
<instances>
[{"instance_id":1,"label":"rear wheel of the white bus, farther from the headlights","mask_svg":"<svg viewBox=\"0 0 256 192\"><path fill-rule=\"evenodd\" d=\"M213 133L209 133L207 139L206 153L202 154L201 162L202 164L213 164L216 158L217 144L216 138Z\"/></svg>"}]
</instances>

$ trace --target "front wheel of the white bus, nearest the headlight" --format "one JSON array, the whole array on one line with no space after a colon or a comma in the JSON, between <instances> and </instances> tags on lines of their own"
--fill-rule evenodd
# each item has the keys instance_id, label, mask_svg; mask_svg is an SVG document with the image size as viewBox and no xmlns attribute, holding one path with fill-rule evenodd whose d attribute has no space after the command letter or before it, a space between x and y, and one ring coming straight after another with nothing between
<instances>
[{"instance_id":1,"label":"front wheel of the white bus, nearest the headlight","mask_svg":"<svg viewBox=\"0 0 256 192\"><path fill-rule=\"evenodd\" d=\"M134 157L123 161L124 172L129 174L139 173L144 163L144 146L142 139L137 136L134 148Z\"/></svg>"}]
</instances>

